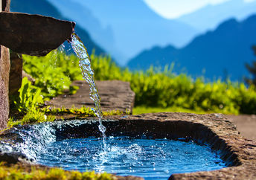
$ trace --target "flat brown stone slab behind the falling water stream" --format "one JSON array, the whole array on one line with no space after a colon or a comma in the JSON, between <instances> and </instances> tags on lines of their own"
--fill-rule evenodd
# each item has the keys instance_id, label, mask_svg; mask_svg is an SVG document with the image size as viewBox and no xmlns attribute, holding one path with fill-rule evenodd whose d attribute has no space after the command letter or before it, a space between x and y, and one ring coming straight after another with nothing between
<instances>
[{"instance_id":1,"label":"flat brown stone slab behind the falling water stream","mask_svg":"<svg viewBox=\"0 0 256 180\"><path fill-rule=\"evenodd\" d=\"M96 81L97 89L101 97L101 108L103 111L119 110L122 112L132 112L135 93L130 89L129 83L120 80ZM89 97L89 84L83 80L72 83L79 86L76 94L63 94L46 102L48 106L56 108L65 107L71 109L72 106L80 108L82 106L95 107L94 102Z\"/></svg>"}]
</instances>

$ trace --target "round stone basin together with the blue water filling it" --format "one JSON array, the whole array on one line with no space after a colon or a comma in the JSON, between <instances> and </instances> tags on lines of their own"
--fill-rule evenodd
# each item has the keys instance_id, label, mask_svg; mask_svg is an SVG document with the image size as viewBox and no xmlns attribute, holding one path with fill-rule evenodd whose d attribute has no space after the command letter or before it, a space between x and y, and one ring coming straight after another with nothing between
<instances>
[{"instance_id":1,"label":"round stone basin together with the blue water filling it","mask_svg":"<svg viewBox=\"0 0 256 180\"><path fill-rule=\"evenodd\" d=\"M91 118L16 126L0 135L0 161L16 163L23 156L48 167L116 173L118 179L256 178L255 142L223 115L108 117L106 145L97 125Z\"/></svg>"}]
</instances>

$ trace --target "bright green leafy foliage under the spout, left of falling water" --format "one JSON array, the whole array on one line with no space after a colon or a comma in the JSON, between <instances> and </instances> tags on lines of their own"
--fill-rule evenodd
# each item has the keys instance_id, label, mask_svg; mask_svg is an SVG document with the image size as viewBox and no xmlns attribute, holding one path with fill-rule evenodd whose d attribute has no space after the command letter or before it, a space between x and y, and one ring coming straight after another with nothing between
<instances>
[{"instance_id":1,"label":"bright green leafy foliage under the spout, left of falling water","mask_svg":"<svg viewBox=\"0 0 256 180\"><path fill-rule=\"evenodd\" d=\"M73 80L81 80L78 61L74 56L67 57L52 51L45 57L23 56L24 70L35 78L34 86L41 89L44 100L62 94L65 89L74 93Z\"/></svg>"}]
</instances>

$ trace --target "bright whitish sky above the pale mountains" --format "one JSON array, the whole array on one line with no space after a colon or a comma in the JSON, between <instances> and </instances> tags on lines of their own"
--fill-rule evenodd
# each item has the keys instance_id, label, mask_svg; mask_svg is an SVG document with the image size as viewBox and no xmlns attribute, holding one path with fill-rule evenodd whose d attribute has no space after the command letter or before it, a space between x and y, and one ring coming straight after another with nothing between
<instances>
[{"instance_id":1,"label":"bright whitish sky above the pale mountains","mask_svg":"<svg viewBox=\"0 0 256 180\"><path fill-rule=\"evenodd\" d=\"M234 0L144 0L156 13L167 19L175 19L186 13L192 13L208 4L220 4ZM255 0L243 0L255 1Z\"/></svg>"}]
</instances>

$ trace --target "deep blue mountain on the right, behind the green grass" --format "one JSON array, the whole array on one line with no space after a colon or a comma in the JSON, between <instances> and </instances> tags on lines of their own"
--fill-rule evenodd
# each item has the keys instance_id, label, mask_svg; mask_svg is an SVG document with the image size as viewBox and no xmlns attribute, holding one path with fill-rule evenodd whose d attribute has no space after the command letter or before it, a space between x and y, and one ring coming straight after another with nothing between
<instances>
[{"instance_id":1,"label":"deep blue mountain on the right, behind the green grass","mask_svg":"<svg viewBox=\"0 0 256 180\"><path fill-rule=\"evenodd\" d=\"M129 61L131 69L175 62L174 70L193 77L204 75L214 80L228 75L231 80L242 80L248 75L245 63L254 59L252 45L256 44L256 15L242 22L229 19L216 30L197 36L184 48L155 47L141 52Z\"/></svg>"}]
</instances>

